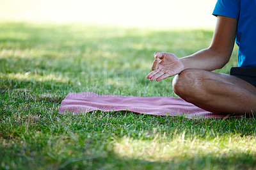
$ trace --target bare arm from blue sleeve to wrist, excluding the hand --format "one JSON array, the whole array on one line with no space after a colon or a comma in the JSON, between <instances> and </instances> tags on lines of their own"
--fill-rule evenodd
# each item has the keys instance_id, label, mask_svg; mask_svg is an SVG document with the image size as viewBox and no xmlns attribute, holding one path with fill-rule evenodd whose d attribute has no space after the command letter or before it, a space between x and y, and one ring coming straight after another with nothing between
<instances>
[{"instance_id":1,"label":"bare arm from blue sleeve to wrist, excluding the hand","mask_svg":"<svg viewBox=\"0 0 256 170\"><path fill-rule=\"evenodd\" d=\"M180 61L184 65L184 69L198 68L212 71L225 66L234 48L236 27L236 19L218 16L210 47L181 58Z\"/></svg>"}]
</instances>

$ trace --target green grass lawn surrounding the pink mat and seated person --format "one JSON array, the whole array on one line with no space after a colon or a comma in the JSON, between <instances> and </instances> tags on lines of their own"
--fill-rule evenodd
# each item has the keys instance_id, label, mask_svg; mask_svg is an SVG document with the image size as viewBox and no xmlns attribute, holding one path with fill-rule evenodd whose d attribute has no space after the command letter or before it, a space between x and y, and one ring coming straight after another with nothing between
<instances>
[{"instance_id":1,"label":"green grass lawn surrounding the pink mat and seated person","mask_svg":"<svg viewBox=\"0 0 256 170\"><path fill-rule=\"evenodd\" d=\"M211 30L0 24L1 169L253 169L256 120L58 114L70 92L177 97L150 82L155 51L182 57ZM216 72L228 73L230 63Z\"/></svg>"}]
</instances>

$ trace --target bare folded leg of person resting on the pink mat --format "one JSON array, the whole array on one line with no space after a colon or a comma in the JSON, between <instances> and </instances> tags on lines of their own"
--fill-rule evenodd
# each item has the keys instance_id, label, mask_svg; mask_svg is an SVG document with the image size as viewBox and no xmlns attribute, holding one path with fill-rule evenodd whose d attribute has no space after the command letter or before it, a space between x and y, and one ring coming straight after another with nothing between
<instances>
[{"instance_id":1,"label":"bare folded leg of person resting on the pink mat","mask_svg":"<svg viewBox=\"0 0 256 170\"><path fill-rule=\"evenodd\" d=\"M256 87L233 75L187 69L173 79L173 91L206 111L256 113Z\"/></svg>"}]
</instances>

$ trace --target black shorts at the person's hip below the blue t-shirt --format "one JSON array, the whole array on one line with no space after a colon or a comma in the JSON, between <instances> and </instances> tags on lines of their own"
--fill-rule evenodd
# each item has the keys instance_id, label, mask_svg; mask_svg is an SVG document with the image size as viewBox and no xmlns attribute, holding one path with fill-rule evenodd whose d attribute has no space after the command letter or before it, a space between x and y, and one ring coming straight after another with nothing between
<instances>
[{"instance_id":1,"label":"black shorts at the person's hip below the blue t-shirt","mask_svg":"<svg viewBox=\"0 0 256 170\"><path fill-rule=\"evenodd\" d=\"M234 75L256 87L256 68L255 67L232 67L230 75Z\"/></svg>"}]
</instances>

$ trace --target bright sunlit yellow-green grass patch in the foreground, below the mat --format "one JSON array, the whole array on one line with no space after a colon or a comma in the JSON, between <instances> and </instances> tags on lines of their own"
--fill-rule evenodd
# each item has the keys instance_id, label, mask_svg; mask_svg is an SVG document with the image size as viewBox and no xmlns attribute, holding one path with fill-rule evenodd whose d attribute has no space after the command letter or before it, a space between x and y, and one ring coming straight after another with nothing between
<instances>
[{"instance_id":1,"label":"bright sunlit yellow-green grass patch in the foreground, below the mat","mask_svg":"<svg viewBox=\"0 0 256 170\"><path fill-rule=\"evenodd\" d=\"M241 155L256 155L255 137L240 135L221 135L214 139L211 137L196 138L185 137L185 132L174 135L172 140L166 140L164 135L156 134L152 140L132 139L123 137L114 143L114 151L121 157L138 158L148 161L172 161L191 158L241 157ZM253 156L253 157L254 157Z\"/></svg>"}]
</instances>

